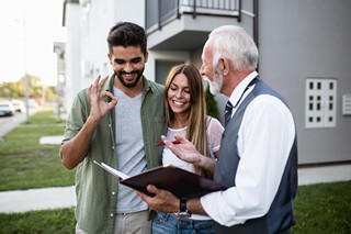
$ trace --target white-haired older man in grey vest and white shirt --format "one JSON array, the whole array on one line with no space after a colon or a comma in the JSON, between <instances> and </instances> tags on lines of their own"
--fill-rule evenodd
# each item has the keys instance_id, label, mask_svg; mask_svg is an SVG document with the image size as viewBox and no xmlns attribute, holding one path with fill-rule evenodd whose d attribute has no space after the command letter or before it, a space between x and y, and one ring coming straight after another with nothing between
<instances>
[{"instance_id":1,"label":"white-haired older man in grey vest and white shirt","mask_svg":"<svg viewBox=\"0 0 351 234\"><path fill-rule=\"evenodd\" d=\"M211 91L228 97L214 176L228 189L188 201L151 185L148 190L155 197L138 194L158 211L207 214L216 221L215 233L291 233L297 189L296 130L291 111L283 98L259 79L257 46L241 27L215 29L202 59L201 73ZM189 141L174 138L182 144L173 145L162 136L179 158L213 166L214 160L200 155Z\"/></svg>"}]
</instances>

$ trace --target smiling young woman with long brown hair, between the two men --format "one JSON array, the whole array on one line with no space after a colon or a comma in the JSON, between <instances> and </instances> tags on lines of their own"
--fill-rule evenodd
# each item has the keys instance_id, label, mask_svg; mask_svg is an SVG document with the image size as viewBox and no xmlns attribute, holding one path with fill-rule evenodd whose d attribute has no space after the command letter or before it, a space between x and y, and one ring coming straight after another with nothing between
<instances>
[{"instance_id":1,"label":"smiling young woman with long brown hair, between the two men","mask_svg":"<svg viewBox=\"0 0 351 234\"><path fill-rule=\"evenodd\" d=\"M181 64L169 71L165 83L165 108L167 138L174 140L174 134L182 135L192 142L201 154L218 157L224 127L218 120L206 114L203 81L195 66ZM212 172L179 159L167 147L162 152L162 164L171 164L213 178ZM173 213L158 213L152 221L154 234L182 232L214 233L214 221L206 215L193 214L184 219Z\"/></svg>"}]
</instances>

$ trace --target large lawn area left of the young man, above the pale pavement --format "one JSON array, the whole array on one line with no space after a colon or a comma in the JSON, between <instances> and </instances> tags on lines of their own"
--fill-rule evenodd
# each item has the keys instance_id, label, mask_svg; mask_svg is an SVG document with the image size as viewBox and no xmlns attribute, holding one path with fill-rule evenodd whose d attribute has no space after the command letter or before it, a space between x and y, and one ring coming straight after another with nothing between
<instances>
[{"instance_id":1,"label":"large lawn area left of the young man, above the pale pavement","mask_svg":"<svg viewBox=\"0 0 351 234\"><path fill-rule=\"evenodd\" d=\"M0 142L0 191L72 186L75 170L60 163L59 145L41 145L41 136L63 135L65 123L48 109L35 113Z\"/></svg>"}]
</instances>

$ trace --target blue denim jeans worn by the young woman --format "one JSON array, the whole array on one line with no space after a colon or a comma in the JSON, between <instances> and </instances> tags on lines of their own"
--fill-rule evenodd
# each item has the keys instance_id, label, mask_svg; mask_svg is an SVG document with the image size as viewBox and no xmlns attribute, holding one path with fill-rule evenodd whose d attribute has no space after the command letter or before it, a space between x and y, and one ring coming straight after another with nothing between
<instances>
[{"instance_id":1,"label":"blue denim jeans worn by the young woman","mask_svg":"<svg viewBox=\"0 0 351 234\"><path fill-rule=\"evenodd\" d=\"M213 220L178 219L169 213L158 212L152 221L152 234L208 234L214 233Z\"/></svg>"}]
</instances>

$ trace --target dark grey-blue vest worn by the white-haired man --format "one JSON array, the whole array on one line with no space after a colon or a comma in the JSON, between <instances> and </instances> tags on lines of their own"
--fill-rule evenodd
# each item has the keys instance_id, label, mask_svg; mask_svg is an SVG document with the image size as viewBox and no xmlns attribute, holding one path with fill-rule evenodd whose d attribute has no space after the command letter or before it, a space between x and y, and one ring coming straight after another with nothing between
<instances>
[{"instance_id":1,"label":"dark grey-blue vest worn by the white-haired man","mask_svg":"<svg viewBox=\"0 0 351 234\"><path fill-rule=\"evenodd\" d=\"M245 98L238 107L231 120L225 127L222 136L219 160L217 161L214 179L227 187L234 187L237 167L240 160L237 148L237 140L242 116L248 104L260 94L270 94L279 98L286 105L283 98L258 80L253 90ZM287 107L287 105L286 105ZM259 116L258 116L259 118ZM276 143L279 144L279 143ZM254 147L254 146L252 146ZM274 161L272 161L274 164ZM246 221L244 224L230 227L216 224L215 233L284 233L295 224L293 212L293 199L297 190L297 141L296 134L291 148L287 163L279 186L278 192L268 213L258 219Z\"/></svg>"}]
</instances>

